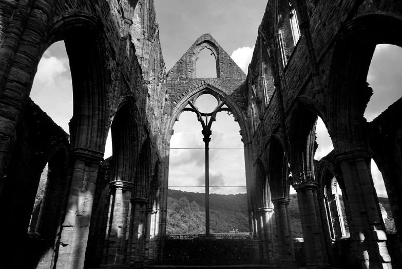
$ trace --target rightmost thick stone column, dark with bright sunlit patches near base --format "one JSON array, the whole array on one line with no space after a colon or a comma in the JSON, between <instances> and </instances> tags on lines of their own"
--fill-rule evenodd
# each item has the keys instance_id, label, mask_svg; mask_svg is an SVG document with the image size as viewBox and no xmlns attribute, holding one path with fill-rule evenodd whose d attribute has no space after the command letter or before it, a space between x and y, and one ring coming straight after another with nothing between
<instances>
[{"instance_id":1,"label":"rightmost thick stone column, dark with bright sunlit patches near base","mask_svg":"<svg viewBox=\"0 0 402 269\"><path fill-rule=\"evenodd\" d=\"M363 150L336 156L343 174L362 268L392 268L384 221Z\"/></svg>"}]
</instances>

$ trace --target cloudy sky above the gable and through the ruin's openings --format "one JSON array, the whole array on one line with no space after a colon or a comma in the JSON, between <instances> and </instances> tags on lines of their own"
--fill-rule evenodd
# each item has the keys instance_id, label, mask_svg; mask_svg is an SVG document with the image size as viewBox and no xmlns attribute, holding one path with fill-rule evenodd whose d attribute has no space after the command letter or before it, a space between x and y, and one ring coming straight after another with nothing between
<instances>
[{"instance_id":1,"label":"cloudy sky above the gable and through the ruin's openings","mask_svg":"<svg viewBox=\"0 0 402 269\"><path fill-rule=\"evenodd\" d=\"M185 51L204 33L210 33L232 56L234 61L247 71L251 61L257 29L261 22L266 0L250 2L238 0L155 0L157 20L166 69L169 70ZM197 77L216 77L213 56L203 50L197 62ZM391 45L377 46L370 66L368 82L374 95L368 105L365 117L371 121L401 97L398 89L402 85L400 63L401 49ZM212 66L212 68L211 68ZM52 119L68 132L72 116L72 86L68 57L63 42L53 44L43 56L34 79L31 98L48 113ZM200 100L200 109L213 110L213 99ZM209 105L204 107L204 105ZM212 108L211 108L212 107ZM233 116L219 113L213 123L210 148L243 148L239 125ZM204 148L201 124L195 114L183 113L174 126L175 134L171 148ZM316 159L332 150L328 132L319 120L317 124L319 148ZM105 157L111 155L110 136ZM210 186L244 186L244 153L242 150L210 150ZM205 157L203 150L170 151L170 186L204 185ZM376 189L385 196L384 183L376 167L372 167ZM203 188L182 190L204 192ZM215 193L240 193L244 188L212 188Z\"/></svg>"}]
</instances>

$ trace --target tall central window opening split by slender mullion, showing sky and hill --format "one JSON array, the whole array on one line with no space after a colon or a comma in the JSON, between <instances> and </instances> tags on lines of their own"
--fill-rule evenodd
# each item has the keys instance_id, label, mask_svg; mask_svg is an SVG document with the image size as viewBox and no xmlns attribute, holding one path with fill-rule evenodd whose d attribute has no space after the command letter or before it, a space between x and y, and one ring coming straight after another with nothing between
<instances>
[{"instance_id":1,"label":"tall central window opening split by slender mullion, showing sky and hill","mask_svg":"<svg viewBox=\"0 0 402 269\"><path fill-rule=\"evenodd\" d=\"M217 98L213 95L204 93L196 97L195 107L201 115L202 113L206 115L213 112L220 102L220 100L217 102ZM187 109L189 109L188 106L185 110ZM227 106L223 109L228 111ZM202 225L205 225L207 221L205 208L210 208L210 234L234 232L248 234L244 152L239 136L239 124L234 121L232 115L225 113L217 113L216 117L206 116L207 121L205 116L201 117L205 124L212 123L208 163L205 163L203 141L205 137L201 134L202 126L196 120L196 114L184 111L174 125L174 135L170 140L167 233L204 234L206 230ZM207 194L210 199L209 207L205 202L206 196L204 199L202 196L204 194L201 194L205 193L206 165L209 166L207 190L208 193L210 192ZM198 194L194 194L195 196L190 194L193 192ZM197 216L197 219L189 221L189 225L180 228L176 211L181 207L192 209L193 216ZM233 210L241 211L241 213L236 218L232 218L230 215ZM186 217L183 216L183 218Z\"/></svg>"}]
</instances>

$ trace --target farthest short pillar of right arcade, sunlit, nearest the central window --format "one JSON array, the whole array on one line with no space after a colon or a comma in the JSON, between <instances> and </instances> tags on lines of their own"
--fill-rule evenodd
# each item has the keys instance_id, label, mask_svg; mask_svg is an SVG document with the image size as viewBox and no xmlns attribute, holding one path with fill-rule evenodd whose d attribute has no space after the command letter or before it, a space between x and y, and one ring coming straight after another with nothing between
<instances>
[{"instance_id":1,"label":"farthest short pillar of right arcade, sunlit, nearest the central window","mask_svg":"<svg viewBox=\"0 0 402 269\"><path fill-rule=\"evenodd\" d=\"M261 207L260 213L260 240L262 243L262 262L267 263L273 258L273 209Z\"/></svg>"}]
</instances>

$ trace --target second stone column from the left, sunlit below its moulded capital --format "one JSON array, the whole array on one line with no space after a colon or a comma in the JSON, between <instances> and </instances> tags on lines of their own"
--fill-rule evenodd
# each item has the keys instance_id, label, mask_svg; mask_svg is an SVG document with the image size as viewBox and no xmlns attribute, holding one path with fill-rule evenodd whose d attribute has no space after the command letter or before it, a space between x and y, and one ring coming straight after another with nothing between
<instances>
[{"instance_id":1,"label":"second stone column from the left, sunlit below its moulded capital","mask_svg":"<svg viewBox=\"0 0 402 269\"><path fill-rule=\"evenodd\" d=\"M114 192L113 211L109 222L106 264L103 268L123 268L124 249L126 245L128 208L131 190L134 184L126 181L110 182Z\"/></svg>"}]
</instances>

